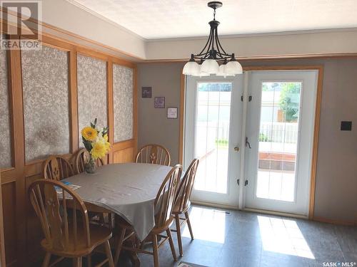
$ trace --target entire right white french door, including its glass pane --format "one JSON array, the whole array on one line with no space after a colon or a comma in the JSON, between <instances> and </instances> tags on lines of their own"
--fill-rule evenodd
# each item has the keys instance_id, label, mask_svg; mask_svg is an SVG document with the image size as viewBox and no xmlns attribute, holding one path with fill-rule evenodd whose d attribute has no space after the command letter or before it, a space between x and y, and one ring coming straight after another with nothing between
<instances>
[{"instance_id":1,"label":"entire right white french door, including its glass pane","mask_svg":"<svg viewBox=\"0 0 357 267\"><path fill-rule=\"evenodd\" d=\"M308 214L317 73L249 76L246 208Z\"/></svg>"}]
</instances>

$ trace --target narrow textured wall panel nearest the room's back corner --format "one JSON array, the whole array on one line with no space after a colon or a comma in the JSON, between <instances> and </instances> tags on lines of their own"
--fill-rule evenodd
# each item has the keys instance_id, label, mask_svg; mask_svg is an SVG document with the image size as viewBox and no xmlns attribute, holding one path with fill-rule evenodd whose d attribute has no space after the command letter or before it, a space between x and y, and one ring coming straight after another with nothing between
<instances>
[{"instance_id":1,"label":"narrow textured wall panel nearest the room's back corner","mask_svg":"<svg viewBox=\"0 0 357 267\"><path fill-rule=\"evenodd\" d=\"M114 142L133 138L133 69L113 65Z\"/></svg>"}]
</instances>

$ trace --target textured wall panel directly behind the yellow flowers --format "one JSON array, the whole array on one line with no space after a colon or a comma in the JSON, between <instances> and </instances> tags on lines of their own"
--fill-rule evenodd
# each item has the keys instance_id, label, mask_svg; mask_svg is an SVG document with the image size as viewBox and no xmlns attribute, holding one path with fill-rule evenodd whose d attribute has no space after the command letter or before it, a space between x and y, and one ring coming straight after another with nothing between
<instances>
[{"instance_id":1,"label":"textured wall panel directly behind the yellow flowers","mask_svg":"<svg viewBox=\"0 0 357 267\"><path fill-rule=\"evenodd\" d=\"M77 85L79 112L79 145L81 129L95 118L98 127L108 125L106 115L106 62L87 56L77 57Z\"/></svg>"}]
</instances>

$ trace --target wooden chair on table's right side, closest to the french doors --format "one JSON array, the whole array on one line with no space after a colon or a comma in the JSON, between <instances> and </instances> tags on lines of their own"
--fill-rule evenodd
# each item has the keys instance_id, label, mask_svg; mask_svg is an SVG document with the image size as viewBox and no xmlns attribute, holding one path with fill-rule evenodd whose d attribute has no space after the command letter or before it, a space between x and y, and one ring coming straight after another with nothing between
<instances>
[{"instance_id":1,"label":"wooden chair on table's right side, closest to the french doors","mask_svg":"<svg viewBox=\"0 0 357 267\"><path fill-rule=\"evenodd\" d=\"M190 197L192 193L193 183L195 182L196 171L198 167L199 160L193 159L190 166L188 167L183 179L178 186L178 190L176 193L176 204L174 206L173 214L175 216L176 222L176 230L177 231L177 241L178 241L178 250L180 252L180 256L183 256L182 251L182 240L181 240L181 226L187 222L188 230L191 234L191 240L193 240L193 232L191 228L190 218L188 216L188 209L190 209L191 202ZM185 218L181 218L180 215L185 214ZM180 220L182 222L180 222Z\"/></svg>"}]
</instances>

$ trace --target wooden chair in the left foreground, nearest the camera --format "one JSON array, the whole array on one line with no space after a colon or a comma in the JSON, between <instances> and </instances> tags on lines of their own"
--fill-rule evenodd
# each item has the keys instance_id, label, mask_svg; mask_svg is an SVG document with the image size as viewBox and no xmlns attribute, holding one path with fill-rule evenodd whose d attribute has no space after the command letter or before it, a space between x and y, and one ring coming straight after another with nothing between
<instances>
[{"instance_id":1,"label":"wooden chair in the left foreground, nearest the camera","mask_svg":"<svg viewBox=\"0 0 357 267\"><path fill-rule=\"evenodd\" d=\"M51 266L63 258L73 258L74 266L82 266L82 257L89 256L99 245L104 245L107 256L101 264L108 262L114 267L109 244L111 231L89 224L86 206L76 192L61 182L39 179L30 185L29 198L45 236L41 241L46 251L43 267L50 266L52 254L61 258ZM72 206L71 216L69 206Z\"/></svg>"}]
</instances>

